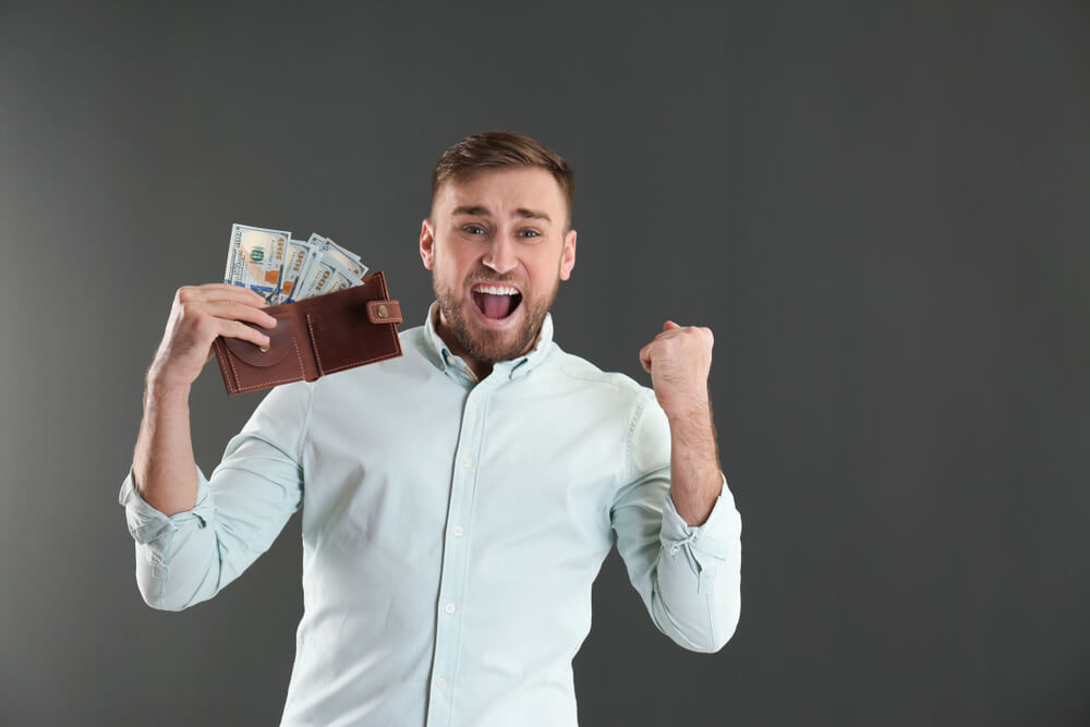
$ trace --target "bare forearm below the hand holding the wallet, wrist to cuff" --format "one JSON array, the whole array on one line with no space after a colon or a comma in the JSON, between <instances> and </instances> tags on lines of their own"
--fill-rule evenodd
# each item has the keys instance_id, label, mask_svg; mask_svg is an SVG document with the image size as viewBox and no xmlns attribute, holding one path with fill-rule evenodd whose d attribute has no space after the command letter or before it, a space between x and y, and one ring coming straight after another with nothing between
<instances>
[{"instance_id":1,"label":"bare forearm below the hand holding the wallet, wrist to cuff","mask_svg":"<svg viewBox=\"0 0 1090 727\"><path fill-rule=\"evenodd\" d=\"M192 510L197 498L189 397L189 386L165 386L148 376L133 478L140 496L167 516Z\"/></svg>"}]
</instances>

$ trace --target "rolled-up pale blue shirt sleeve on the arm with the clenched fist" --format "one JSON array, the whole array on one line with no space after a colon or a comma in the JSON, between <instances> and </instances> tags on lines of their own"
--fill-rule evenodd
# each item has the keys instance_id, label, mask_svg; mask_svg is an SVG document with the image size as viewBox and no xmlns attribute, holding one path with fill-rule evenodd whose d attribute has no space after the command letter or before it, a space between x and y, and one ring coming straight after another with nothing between
<instances>
[{"instance_id":1,"label":"rolled-up pale blue shirt sleeve on the arm with the clenched fist","mask_svg":"<svg viewBox=\"0 0 1090 727\"><path fill-rule=\"evenodd\" d=\"M741 610L741 518L726 477L707 520L689 525L669 495L669 424L653 395L629 444L633 480L611 510L629 580L659 631L690 651L718 651Z\"/></svg>"}]
</instances>

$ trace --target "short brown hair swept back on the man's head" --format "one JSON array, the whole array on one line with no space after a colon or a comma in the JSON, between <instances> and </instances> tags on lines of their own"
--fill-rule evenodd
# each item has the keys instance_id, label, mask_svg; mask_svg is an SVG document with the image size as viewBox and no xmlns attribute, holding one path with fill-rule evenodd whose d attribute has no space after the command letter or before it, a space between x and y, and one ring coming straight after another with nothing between
<instances>
[{"instance_id":1,"label":"short brown hair swept back on the man's head","mask_svg":"<svg viewBox=\"0 0 1090 727\"><path fill-rule=\"evenodd\" d=\"M557 184L568 202L568 227L576 199L576 180L564 157L536 138L514 131L487 131L467 136L443 153L432 170L432 204L447 180L467 180L485 169L500 167L541 167Z\"/></svg>"}]
</instances>

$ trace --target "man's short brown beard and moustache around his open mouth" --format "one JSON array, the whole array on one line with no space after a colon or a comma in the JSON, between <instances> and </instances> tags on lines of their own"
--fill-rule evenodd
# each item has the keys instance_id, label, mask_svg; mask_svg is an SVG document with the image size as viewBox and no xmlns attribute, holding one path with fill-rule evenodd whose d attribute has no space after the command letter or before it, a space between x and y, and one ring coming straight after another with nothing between
<instances>
[{"instance_id":1,"label":"man's short brown beard and moustache around his open mouth","mask_svg":"<svg viewBox=\"0 0 1090 727\"><path fill-rule=\"evenodd\" d=\"M500 361L510 361L521 355L541 332L545 315L553 307L557 291L560 288L559 278L553 283L553 290L547 294L531 299L530 291L522 287L522 301L519 307L524 307L522 312L522 325L514 331L493 330L479 326L472 316L467 314L465 306L476 305L472 295L467 292L461 305L458 304L459 294L469 291L470 286L477 282L511 282L510 277L498 276L488 268L482 267L476 272L467 277L461 290L455 290L444 282L439 275L438 266L432 271L432 288L435 290L435 298L439 302L439 312L447 328L455 335L462 352L481 363L495 364ZM512 312L513 315L513 312ZM513 335L512 335L513 334Z\"/></svg>"}]
</instances>

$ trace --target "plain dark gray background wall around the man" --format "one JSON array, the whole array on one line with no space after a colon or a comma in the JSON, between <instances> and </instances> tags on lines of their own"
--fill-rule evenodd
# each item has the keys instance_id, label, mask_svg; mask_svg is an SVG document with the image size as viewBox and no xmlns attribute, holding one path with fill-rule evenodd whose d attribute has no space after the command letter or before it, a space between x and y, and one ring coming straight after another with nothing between
<instances>
[{"instance_id":1,"label":"plain dark gray background wall around the man","mask_svg":"<svg viewBox=\"0 0 1090 727\"><path fill-rule=\"evenodd\" d=\"M145 606L144 371L232 221L337 239L421 322L428 173L487 129L576 169L561 346L646 381L664 318L716 335L739 629L681 651L610 556L583 724L1090 722L1085 5L87 4L0 7L0 723L276 723L299 518ZM259 398L206 369L206 471Z\"/></svg>"}]
</instances>

